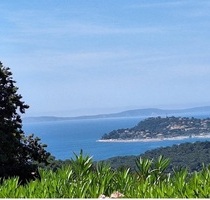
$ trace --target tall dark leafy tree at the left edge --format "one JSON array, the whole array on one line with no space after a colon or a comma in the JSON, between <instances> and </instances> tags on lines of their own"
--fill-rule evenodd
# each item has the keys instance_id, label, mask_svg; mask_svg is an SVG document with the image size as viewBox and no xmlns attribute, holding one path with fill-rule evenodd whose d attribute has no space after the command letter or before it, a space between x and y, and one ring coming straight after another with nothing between
<instances>
[{"instance_id":1,"label":"tall dark leafy tree at the left edge","mask_svg":"<svg viewBox=\"0 0 210 200\"><path fill-rule=\"evenodd\" d=\"M0 62L0 177L15 175L28 180L37 163L47 163L50 153L39 138L25 136L20 115L29 106L17 93L15 83L10 68Z\"/></svg>"}]
</instances>

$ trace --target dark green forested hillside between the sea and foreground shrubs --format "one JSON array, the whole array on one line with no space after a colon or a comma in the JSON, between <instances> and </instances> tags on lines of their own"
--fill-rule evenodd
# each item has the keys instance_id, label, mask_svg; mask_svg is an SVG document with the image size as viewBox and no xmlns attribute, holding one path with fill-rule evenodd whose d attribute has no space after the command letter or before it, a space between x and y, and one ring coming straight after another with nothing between
<instances>
[{"instance_id":1,"label":"dark green forested hillside between the sea and foreground shrubs","mask_svg":"<svg viewBox=\"0 0 210 200\"><path fill-rule=\"evenodd\" d=\"M105 162L114 169L131 168L135 170L135 162L139 157L157 160L160 155L170 160L168 171L179 167L188 168L189 171L199 171L203 164L210 164L210 142L182 143L172 147L149 150L139 156L113 157Z\"/></svg>"}]
</instances>

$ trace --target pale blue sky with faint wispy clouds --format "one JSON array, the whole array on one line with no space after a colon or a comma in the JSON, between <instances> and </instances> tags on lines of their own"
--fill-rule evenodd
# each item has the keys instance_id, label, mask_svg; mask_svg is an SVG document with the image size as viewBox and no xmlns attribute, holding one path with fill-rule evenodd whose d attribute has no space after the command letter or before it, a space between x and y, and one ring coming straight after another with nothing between
<instances>
[{"instance_id":1,"label":"pale blue sky with faint wispy clouds","mask_svg":"<svg viewBox=\"0 0 210 200\"><path fill-rule=\"evenodd\" d=\"M1 0L26 116L210 105L210 1Z\"/></svg>"}]
</instances>

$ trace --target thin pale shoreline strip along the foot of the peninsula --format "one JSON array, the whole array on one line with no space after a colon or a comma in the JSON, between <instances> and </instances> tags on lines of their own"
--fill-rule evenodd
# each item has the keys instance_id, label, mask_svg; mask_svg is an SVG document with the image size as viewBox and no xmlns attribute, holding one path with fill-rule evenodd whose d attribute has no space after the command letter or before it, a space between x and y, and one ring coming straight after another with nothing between
<instances>
[{"instance_id":1,"label":"thin pale shoreline strip along the foot of the peninsula","mask_svg":"<svg viewBox=\"0 0 210 200\"><path fill-rule=\"evenodd\" d=\"M210 138L210 134L208 135L194 135L194 136L178 136L178 137L169 137L169 138L145 138L145 139L99 139L96 142L159 142L163 140L184 140L187 138Z\"/></svg>"}]
</instances>

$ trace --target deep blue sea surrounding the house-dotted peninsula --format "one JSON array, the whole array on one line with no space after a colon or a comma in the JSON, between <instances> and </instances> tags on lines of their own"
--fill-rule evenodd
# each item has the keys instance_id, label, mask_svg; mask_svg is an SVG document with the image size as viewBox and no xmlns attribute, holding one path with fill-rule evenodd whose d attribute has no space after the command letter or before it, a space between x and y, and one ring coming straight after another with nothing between
<instances>
[{"instance_id":1,"label":"deep blue sea surrounding the house-dotted peninsula","mask_svg":"<svg viewBox=\"0 0 210 200\"><path fill-rule=\"evenodd\" d=\"M209 116L197 115L197 118ZM23 122L26 135L34 134L47 144L47 150L56 159L75 157L82 150L94 161L116 156L140 155L148 150L184 142L210 141L210 138L187 138L153 142L98 142L103 134L120 128L131 128L144 117L76 119L63 121Z\"/></svg>"}]
</instances>

